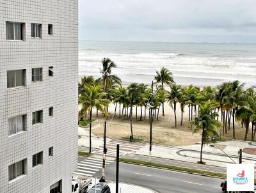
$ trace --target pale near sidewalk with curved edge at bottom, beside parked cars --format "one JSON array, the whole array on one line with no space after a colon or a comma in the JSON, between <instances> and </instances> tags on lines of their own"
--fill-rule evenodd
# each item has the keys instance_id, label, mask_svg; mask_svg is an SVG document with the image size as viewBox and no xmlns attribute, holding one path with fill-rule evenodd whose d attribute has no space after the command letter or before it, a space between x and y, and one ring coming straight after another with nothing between
<instances>
[{"instance_id":1,"label":"pale near sidewalk with curved edge at bottom, beside parked cars","mask_svg":"<svg viewBox=\"0 0 256 193\"><path fill-rule=\"evenodd\" d=\"M116 183L108 183L111 193L116 192ZM146 189L144 187L140 187L138 185L131 185L127 183L119 183L118 193L157 193L154 190Z\"/></svg>"}]
</instances>

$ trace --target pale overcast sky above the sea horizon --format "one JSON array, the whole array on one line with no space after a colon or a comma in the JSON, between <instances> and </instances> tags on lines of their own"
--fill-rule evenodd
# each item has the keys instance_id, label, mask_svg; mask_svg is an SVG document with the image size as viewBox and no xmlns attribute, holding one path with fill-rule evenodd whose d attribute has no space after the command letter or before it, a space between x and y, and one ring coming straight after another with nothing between
<instances>
[{"instance_id":1,"label":"pale overcast sky above the sea horizon","mask_svg":"<svg viewBox=\"0 0 256 193\"><path fill-rule=\"evenodd\" d=\"M256 0L78 0L79 40L256 43Z\"/></svg>"}]
</instances>

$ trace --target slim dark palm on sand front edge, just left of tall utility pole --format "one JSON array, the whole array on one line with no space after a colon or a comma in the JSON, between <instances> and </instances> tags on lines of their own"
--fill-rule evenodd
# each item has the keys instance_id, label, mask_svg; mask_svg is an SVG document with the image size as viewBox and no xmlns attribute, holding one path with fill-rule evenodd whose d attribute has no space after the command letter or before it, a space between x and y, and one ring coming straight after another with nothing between
<instances>
[{"instance_id":1,"label":"slim dark palm on sand front edge, just left of tall utility pole","mask_svg":"<svg viewBox=\"0 0 256 193\"><path fill-rule=\"evenodd\" d=\"M131 139L133 139L132 132L132 107L136 104L136 98L138 97L138 92L140 91L138 83L131 83L128 86L128 96L129 96L129 104L130 104L130 121L131 121Z\"/></svg>"}]
</instances>

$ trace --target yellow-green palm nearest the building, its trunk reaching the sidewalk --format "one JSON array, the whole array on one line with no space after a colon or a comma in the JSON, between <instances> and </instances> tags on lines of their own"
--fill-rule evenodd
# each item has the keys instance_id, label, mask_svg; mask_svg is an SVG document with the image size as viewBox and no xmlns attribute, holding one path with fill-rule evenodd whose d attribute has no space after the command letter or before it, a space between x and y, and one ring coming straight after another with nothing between
<instances>
[{"instance_id":1,"label":"yellow-green palm nearest the building, its trunk reaching the sidewalk","mask_svg":"<svg viewBox=\"0 0 256 193\"><path fill-rule=\"evenodd\" d=\"M99 109L99 111L107 114L104 110L104 105L109 104L109 100L105 98L106 94L102 87L99 85L85 85L84 91L79 95L79 104L82 105L82 110L90 112L90 150L89 153L92 152L92 109L95 107Z\"/></svg>"}]
</instances>

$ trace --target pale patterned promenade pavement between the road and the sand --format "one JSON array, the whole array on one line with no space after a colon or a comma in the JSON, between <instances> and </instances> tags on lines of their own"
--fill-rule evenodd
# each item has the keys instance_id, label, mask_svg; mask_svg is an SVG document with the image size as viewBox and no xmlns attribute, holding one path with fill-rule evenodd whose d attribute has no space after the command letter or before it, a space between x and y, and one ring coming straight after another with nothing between
<instances>
[{"instance_id":1,"label":"pale patterned promenade pavement between the road and the sand","mask_svg":"<svg viewBox=\"0 0 256 193\"><path fill-rule=\"evenodd\" d=\"M88 130L84 128L78 128L79 135L88 136ZM96 137L92 135L92 147L93 148L101 148L103 145L102 137ZM112 141L112 139L106 139L107 144ZM81 137L78 140L79 146L89 146L88 137ZM248 141L222 141L215 144L215 147L211 147L209 145L204 145L203 148L203 161L206 162L206 165L211 166L220 166L226 167L228 163L234 163L223 151L221 151L217 146L221 148L228 156L230 156L234 162L239 162L237 152L239 149L244 148L255 148L255 143L249 144ZM167 158L172 160L180 160L185 162L197 163L200 160L200 147L201 144L194 144L190 146L160 146L153 144L152 146L152 156L159 158ZM122 144L120 144L120 148L122 148ZM136 155L147 155L148 156L149 145L145 144L145 146L141 147L140 150L131 153ZM256 162L256 155L243 153L243 163L253 163Z\"/></svg>"}]
</instances>

